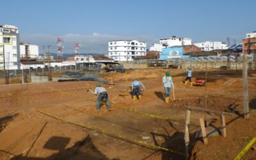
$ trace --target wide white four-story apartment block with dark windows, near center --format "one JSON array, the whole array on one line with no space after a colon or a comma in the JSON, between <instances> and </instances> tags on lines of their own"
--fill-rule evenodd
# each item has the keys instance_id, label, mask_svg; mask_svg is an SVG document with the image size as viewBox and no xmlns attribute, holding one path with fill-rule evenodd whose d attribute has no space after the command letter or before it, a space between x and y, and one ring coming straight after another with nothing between
<instances>
[{"instance_id":1,"label":"wide white four-story apartment block with dark windows, near center","mask_svg":"<svg viewBox=\"0 0 256 160\"><path fill-rule=\"evenodd\" d=\"M146 42L116 40L108 43L108 56L115 61L132 61L135 56L146 56L146 54Z\"/></svg>"}]
</instances>

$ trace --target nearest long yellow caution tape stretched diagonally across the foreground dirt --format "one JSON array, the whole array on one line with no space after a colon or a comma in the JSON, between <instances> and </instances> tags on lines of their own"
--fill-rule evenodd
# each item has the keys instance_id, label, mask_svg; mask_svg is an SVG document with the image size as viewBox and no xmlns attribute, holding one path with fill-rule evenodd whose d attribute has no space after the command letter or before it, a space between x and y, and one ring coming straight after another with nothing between
<instances>
[{"instance_id":1,"label":"nearest long yellow caution tape stretched diagonally across the foreground dirt","mask_svg":"<svg viewBox=\"0 0 256 160\"><path fill-rule=\"evenodd\" d=\"M77 125L79 127L83 127L83 128L86 128L86 129L89 129L89 130L92 130L92 131L100 132L102 134L106 134L108 136L112 136L114 138L118 138L120 140L130 141L131 143L134 143L134 144L143 145L145 147L150 147L150 148L157 148L157 149L160 149L160 150L164 150L164 151L167 151L167 152L172 152L172 153L175 153L175 154L180 154L182 156L185 156L184 153L181 153L181 152L169 149L169 148L164 148L164 147L160 147L160 146L157 146L157 145L152 145L152 144L140 141L140 140L135 140L135 139L132 139L132 138L128 138L127 136L123 136L123 135L120 135L120 134L115 134L115 133L111 133L111 132L108 132L108 131L104 131L103 129L98 129L96 127L93 127L92 125L86 125L86 124L79 124L79 123L76 123L76 122L70 122L70 121L65 120L63 118L60 118L58 116L54 116L54 115L51 115L49 113L45 113L44 111L40 111L40 110L37 110L37 111L39 113L44 114L44 115L50 116L51 118L55 118L56 120L60 120L62 122L66 122L68 124Z\"/></svg>"}]
</instances>

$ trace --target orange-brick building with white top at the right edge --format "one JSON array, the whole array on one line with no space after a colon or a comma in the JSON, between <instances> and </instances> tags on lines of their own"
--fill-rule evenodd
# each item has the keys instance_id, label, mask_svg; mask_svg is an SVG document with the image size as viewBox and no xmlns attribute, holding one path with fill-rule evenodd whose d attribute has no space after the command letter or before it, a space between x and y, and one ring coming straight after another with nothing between
<instances>
[{"instance_id":1,"label":"orange-brick building with white top at the right edge","mask_svg":"<svg viewBox=\"0 0 256 160\"><path fill-rule=\"evenodd\" d=\"M243 39L243 54L256 54L256 31L247 33Z\"/></svg>"}]
</instances>

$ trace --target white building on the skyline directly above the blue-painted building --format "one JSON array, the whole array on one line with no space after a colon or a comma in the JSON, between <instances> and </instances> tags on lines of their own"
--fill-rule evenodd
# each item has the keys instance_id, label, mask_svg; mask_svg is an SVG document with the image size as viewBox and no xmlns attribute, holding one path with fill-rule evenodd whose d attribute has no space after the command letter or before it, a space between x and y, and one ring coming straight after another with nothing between
<instances>
[{"instance_id":1,"label":"white building on the skyline directly above the blue-painted building","mask_svg":"<svg viewBox=\"0 0 256 160\"><path fill-rule=\"evenodd\" d=\"M160 44L162 44L164 47L191 45L192 39L172 36L171 38L161 38Z\"/></svg>"}]
</instances>

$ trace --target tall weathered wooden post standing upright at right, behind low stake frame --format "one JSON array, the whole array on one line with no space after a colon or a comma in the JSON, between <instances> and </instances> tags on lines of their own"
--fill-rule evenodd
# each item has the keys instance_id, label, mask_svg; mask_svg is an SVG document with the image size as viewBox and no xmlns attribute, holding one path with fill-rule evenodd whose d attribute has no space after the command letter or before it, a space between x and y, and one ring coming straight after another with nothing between
<instances>
[{"instance_id":1,"label":"tall weathered wooden post standing upright at right, behind low stake frame","mask_svg":"<svg viewBox=\"0 0 256 160\"><path fill-rule=\"evenodd\" d=\"M247 80L247 56L243 55L243 97L244 97L244 118L249 118L249 97L248 97L248 80Z\"/></svg>"}]
</instances>

